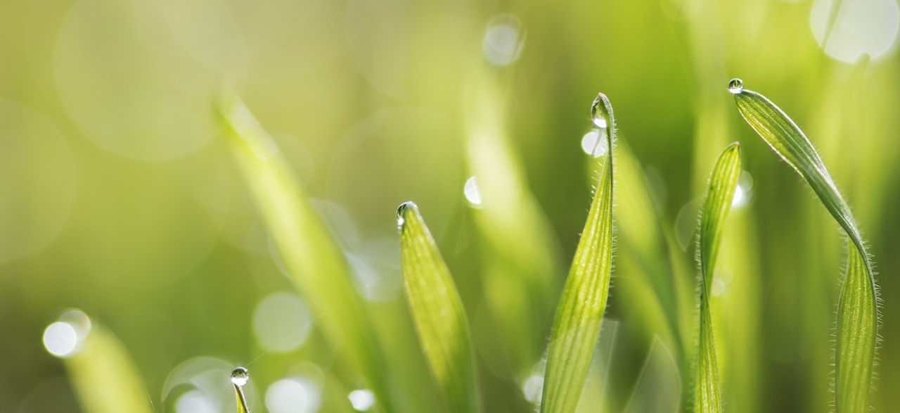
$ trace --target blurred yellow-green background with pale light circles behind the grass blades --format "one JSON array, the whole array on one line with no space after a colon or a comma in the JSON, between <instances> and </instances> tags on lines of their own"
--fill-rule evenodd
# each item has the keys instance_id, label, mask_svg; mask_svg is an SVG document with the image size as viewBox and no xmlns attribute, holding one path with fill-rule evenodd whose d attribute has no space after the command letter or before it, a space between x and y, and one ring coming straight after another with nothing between
<instances>
[{"instance_id":1,"label":"blurred yellow-green background with pale light circles behind the grass blades","mask_svg":"<svg viewBox=\"0 0 900 413\"><path fill-rule=\"evenodd\" d=\"M600 343L608 384L589 386L609 411L675 411L640 402L657 382L653 397L670 389L677 400L671 371L682 364L671 333L642 321L657 304L629 280L664 273L677 281L653 283L657 294L692 291L698 199L716 155L740 141L742 198L714 284L725 408L823 411L843 241L740 119L725 88L734 76L806 130L860 220L883 299L873 405L892 411L897 10L896 0L2 2L0 411L79 411L42 344L70 308L121 340L157 411L233 411L225 374L238 364L255 411L337 411L333 400L365 388L284 276L222 138L223 90L272 135L338 241L410 411L436 401L403 301L395 208L419 204L455 275L484 410L533 409L532 366L590 202L582 138L598 92L614 104L617 148L639 163L617 182L650 200L649 215L624 199L617 214L644 213L653 230L642 242L655 249L629 251L644 234L622 223L607 312L617 334L605 328ZM470 184L467 199L473 175L481 191ZM673 360L655 368L658 354Z\"/></svg>"}]
</instances>

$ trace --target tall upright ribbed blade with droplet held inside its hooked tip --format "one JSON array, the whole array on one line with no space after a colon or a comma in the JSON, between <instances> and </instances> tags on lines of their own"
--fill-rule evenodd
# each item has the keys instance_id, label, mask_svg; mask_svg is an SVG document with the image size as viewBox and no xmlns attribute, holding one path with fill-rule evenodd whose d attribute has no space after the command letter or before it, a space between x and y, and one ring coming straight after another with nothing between
<instances>
[{"instance_id":1,"label":"tall upright ribbed blade with droplet held inside its hooked tip","mask_svg":"<svg viewBox=\"0 0 900 413\"><path fill-rule=\"evenodd\" d=\"M605 135L597 193L556 309L544 375L542 412L572 412L590 369L609 292L613 256L613 140L616 124L605 94L591 107ZM600 141L600 139L598 139Z\"/></svg>"}]
</instances>

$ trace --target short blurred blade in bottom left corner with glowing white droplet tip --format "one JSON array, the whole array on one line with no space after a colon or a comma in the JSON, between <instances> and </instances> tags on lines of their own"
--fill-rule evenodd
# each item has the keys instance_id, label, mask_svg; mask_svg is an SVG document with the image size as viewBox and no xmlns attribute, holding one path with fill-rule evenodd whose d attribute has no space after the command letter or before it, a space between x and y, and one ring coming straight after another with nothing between
<instances>
[{"instance_id":1,"label":"short blurred blade in bottom left corner with glowing white droplet tip","mask_svg":"<svg viewBox=\"0 0 900 413\"><path fill-rule=\"evenodd\" d=\"M69 334L65 334L68 332ZM70 346L59 351L60 338ZM49 352L62 357L87 413L151 413L147 387L121 342L80 310L68 310L44 334Z\"/></svg>"}]
</instances>

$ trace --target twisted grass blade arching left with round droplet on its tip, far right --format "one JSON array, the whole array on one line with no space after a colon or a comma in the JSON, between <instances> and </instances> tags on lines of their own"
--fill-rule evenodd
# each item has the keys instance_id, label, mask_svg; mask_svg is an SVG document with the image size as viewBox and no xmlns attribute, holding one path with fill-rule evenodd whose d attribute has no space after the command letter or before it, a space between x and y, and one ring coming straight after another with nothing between
<instances>
[{"instance_id":1,"label":"twisted grass blade arching left with round droplet on its tip, far right","mask_svg":"<svg viewBox=\"0 0 900 413\"><path fill-rule=\"evenodd\" d=\"M744 89L740 79L731 81L729 91L743 119L803 176L850 238L838 299L835 407L839 412L867 411L878 345L878 287L860 229L822 157L797 124L765 96Z\"/></svg>"}]
</instances>

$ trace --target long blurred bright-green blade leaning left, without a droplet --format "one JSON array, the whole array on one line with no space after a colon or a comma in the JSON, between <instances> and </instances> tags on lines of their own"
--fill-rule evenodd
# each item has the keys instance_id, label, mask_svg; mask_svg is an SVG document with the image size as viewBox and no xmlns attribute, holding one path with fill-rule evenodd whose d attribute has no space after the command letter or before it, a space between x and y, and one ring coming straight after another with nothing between
<instances>
[{"instance_id":1,"label":"long blurred bright-green blade leaning left, without a droplet","mask_svg":"<svg viewBox=\"0 0 900 413\"><path fill-rule=\"evenodd\" d=\"M275 141L247 106L236 96L225 96L219 110L231 153L294 284L320 320L325 337L333 346L346 349L383 409L392 411L385 378L389 369L340 248Z\"/></svg>"}]
</instances>

